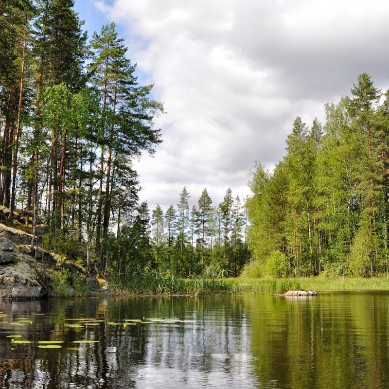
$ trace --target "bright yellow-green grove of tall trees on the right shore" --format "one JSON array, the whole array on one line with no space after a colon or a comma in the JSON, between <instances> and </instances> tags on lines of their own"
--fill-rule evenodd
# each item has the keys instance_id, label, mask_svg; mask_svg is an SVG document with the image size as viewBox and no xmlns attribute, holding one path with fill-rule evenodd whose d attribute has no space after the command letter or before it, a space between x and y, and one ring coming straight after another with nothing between
<instances>
[{"instance_id":1,"label":"bright yellow-green grove of tall trees on the right shore","mask_svg":"<svg viewBox=\"0 0 389 389\"><path fill-rule=\"evenodd\" d=\"M325 111L294 121L272 174L254 168L246 274L388 275L389 91L363 73Z\"/></svg>"}]
</instances>

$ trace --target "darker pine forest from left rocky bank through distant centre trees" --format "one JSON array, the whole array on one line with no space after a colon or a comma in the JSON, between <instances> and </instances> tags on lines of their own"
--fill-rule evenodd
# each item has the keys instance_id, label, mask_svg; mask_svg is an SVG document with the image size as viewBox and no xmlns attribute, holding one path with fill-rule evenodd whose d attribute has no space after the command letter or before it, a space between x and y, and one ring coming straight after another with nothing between
<instances>
[{"instance_id":1,"label":"darker pine forest from left rocky bank through distant centre trees","mask_svg":"<svg viewBox=\"0 0 389 389\"><path fill-rule=\"evenodd\" d=\"M73 0L0 0L0 205L27 212L43 245L125 283L135 269L236 276L247 213L230 188L212 207L140 203L134 160L162 141L163 105L140 85L114 23L89 38ZM42 227L44 226L44 227Z\"/></svg>"}]
</instances>

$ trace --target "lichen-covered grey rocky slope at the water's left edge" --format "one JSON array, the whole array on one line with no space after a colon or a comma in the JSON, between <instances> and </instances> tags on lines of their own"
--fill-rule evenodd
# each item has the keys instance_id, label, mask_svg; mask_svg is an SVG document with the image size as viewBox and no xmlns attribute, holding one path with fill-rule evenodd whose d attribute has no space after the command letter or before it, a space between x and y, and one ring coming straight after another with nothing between
<instances>
[{"instance_id":1,"label":"lichen-covered grey rocky slope at the water's left edge","mask_svg":"<svg viewBox=\"0 0 389 389\"><path fill-rule=\"evenodd\" d=\"M0 224L0 300L109 294L106 283L57 253L31 249L32 235Z\"/></svg>"}]
</instances>

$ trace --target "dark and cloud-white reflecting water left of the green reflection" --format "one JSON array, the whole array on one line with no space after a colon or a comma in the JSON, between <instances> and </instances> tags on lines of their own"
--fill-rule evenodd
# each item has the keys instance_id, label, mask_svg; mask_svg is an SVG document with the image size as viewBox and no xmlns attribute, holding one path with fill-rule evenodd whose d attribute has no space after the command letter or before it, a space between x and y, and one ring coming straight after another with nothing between
<instances>
[{"instance_id":1,"label":"dark and cloud-white reflecting water left of the green reflection","mask_svg":"<svg viewBox=\"0 0 389 389\"><path fill-rule=\"evenodd\" d=\"M2 388L252 388L247 318L240 298L0 302ZM46 315L34 315L46 313ZM20 318L31 319L32 323ZM66 326L97 318L93 326ZM144 318L177 318L147 322ZM135 325L126 319L141 319ZM27 321L27 320L26 320ZM111 321L124 323L110 325ZM81 320L79 322L82 322ZM12 344L20 334L33 343ZM37 341L64 340L60 350ZM78 339L98 343L74 347Z\"/></svg>"}]
</instances>

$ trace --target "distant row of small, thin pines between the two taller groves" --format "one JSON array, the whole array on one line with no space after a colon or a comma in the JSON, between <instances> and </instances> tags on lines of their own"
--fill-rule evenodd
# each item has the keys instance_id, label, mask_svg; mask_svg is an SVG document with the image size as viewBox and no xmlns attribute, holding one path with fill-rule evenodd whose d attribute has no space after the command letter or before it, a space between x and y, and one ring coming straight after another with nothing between
<instances>
[{"instance_id":1,"label":"distant row of small, thin pines between the two taller groves","mask_svg":"<svg viewBox=\"0 0 389 389\"><path fill-rule=\"evenodd\" d=\"M134 218L118 224L109 240L109 268L119 283L134 268L150 267L179 277L226 277L240 274L250 253L246 243L248 216L239 196L230 188L223 201L212 206L204 189L197 205L189 206L186 187L177 208L152 212L146 202Z\"/></svg>"}]
</instances>

